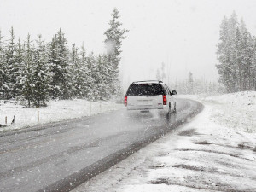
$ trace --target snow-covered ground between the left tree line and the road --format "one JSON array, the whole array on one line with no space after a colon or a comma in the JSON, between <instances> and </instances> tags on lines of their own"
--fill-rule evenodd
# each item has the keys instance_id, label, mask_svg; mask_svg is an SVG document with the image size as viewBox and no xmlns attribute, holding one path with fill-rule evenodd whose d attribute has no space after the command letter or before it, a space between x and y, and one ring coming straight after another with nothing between
<instances>
[{"instance_id":1,"label":"snow-covered ground between the left tree line and the road","mask_svg":"<svg viewBox=\"0 0 256 192\"><path fill-rule=\"evenodd\" d=\"M15 102L0 101L0 124L8 125L0 127L0 131L107 113L119 108L124 108L124 105L115 102L88 102L81 99L50 101L45 108L24 108ZM10 125L14 116L15 124Z\"/></svg>"}]
</instances>

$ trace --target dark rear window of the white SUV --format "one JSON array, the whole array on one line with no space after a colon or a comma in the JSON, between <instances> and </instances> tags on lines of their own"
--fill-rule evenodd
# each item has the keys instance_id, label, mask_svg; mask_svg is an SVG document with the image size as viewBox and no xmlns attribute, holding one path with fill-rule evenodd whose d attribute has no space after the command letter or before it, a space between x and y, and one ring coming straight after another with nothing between
<instances>
[{"instance_id":1,"label":"dark rear window of the white SUV","mask_svg":"<svg viewBox=\"0 0 256 192\"><path fill-rule=\"evenodd\" d=\"M165 91L161 84L131 84L126 96L157 96L164 95Z\"/></svg>"}]
</instances>

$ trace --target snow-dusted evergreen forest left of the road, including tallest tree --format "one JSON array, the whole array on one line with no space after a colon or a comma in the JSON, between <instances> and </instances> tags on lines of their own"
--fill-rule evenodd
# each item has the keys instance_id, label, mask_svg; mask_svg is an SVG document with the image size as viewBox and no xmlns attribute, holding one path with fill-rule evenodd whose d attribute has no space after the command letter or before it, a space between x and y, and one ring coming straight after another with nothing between
<instances>
[{"instance_id":1,"label":"snow-dusted evergreen forest left of the road, including tallest tree","mask_svg":"<svg viewBox=\"0 0 256 192\"><path fill-rule=\"evenodd\" d=\"M106 53L87 53L84 44L68 46L61 28L53 38L42 35L25 40L0 32L0 99L26 101L30 106L46 106L49 99L85 98L108 100L120 95L119 61L125 32L119 11L113 9L106 36ZM71 48L70 48L71 47Z\"/></svg>"}]
</instances>

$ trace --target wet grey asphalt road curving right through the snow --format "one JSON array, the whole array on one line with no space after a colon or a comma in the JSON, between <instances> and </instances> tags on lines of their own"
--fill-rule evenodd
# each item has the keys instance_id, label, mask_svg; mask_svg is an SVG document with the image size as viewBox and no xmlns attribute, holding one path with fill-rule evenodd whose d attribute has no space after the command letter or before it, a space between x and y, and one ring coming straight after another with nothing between
<instances>
[{"instance_id":1,"label":"wet grey asphalt road curving right through the snow","mask_svg":"<svg viewBox=\"0 0 256 192\"><path fill-rule=\"evenodd\" d=\"M0 134L0 191L69 191L199 113L177 100L177 113L125 109Z\"/></svg>"}]
</instances>

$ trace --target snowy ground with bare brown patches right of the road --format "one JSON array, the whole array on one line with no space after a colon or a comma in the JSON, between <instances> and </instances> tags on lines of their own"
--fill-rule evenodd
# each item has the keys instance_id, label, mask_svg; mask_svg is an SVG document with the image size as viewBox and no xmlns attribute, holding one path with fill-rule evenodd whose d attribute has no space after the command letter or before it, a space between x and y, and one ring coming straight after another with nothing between
<instances>
[{"instance_id":1,"label":"snowy ground with bare brown patches right of the road","mask_svg":"<svg viewBox=\"0 0 256 192\"><path fill-rule=\"evenodd\" d=\"M256 92L189 98L198 116L73 191L256 191Z\"/></svg>"}]
</instances>

